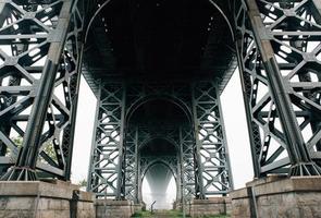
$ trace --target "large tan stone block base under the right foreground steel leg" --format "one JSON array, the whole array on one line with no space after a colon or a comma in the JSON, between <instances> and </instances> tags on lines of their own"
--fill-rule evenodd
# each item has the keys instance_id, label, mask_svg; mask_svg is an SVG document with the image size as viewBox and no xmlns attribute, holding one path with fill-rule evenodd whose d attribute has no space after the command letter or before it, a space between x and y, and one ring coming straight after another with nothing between
<instances>
[{"instance_id":1,"label":"large tan stone block base under the right foreground steel leg","mask_svg":"<svg viewBox=\"0 0 321 218\"><path fill-rule=\"evenodd\" d=\"M257 180L230 197L235 218L321 218L321 177Z\"/></svg>"}]
</instances>

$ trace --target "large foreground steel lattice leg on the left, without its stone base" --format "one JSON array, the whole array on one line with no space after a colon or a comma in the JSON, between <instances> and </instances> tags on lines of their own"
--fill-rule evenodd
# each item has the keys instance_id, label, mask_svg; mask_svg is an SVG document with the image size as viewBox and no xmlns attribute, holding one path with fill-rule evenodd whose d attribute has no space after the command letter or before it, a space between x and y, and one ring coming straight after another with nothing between
<instances>
[{"instance_id":1,"label":"large foreground steel lattice leg on the left, without its stone base","mask_svg":"<svg viewBox=\"0 0 321 218\"><path fill-rule=\"evenodd\" d=\"M70 179L82 59L79 5L72 0L0 3L2 180Z\"/></svg>"}]
</instances>

